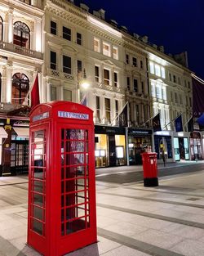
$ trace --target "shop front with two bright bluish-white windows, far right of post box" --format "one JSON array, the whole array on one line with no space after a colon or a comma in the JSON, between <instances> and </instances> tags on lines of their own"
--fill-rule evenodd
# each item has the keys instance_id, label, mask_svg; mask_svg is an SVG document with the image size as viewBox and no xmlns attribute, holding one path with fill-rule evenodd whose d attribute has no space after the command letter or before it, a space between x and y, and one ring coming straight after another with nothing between
<instances>
[{"instance_id":1,"label":"shop front with two bright bluish-white windows, far right of post box","mask_svg":"<svg viewBox=\"0 0 204 256\"><path fill-rule=\"evenodd\" d=\"M189 160L189 138L188 132L174 133L175 161Z\"/></svg>"}]
</instances>

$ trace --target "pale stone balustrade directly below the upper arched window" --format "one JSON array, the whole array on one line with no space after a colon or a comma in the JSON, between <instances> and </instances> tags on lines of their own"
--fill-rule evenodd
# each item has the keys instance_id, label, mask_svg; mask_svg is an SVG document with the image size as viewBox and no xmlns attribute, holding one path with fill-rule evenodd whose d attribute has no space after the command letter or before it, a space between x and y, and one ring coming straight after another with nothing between
<instances>
[{"instance_id":1,"label":"pale stone balustrade directly below the upper arched window","mask_svg":"<svg viewBox=\"0 0 204 256\"><path fill-rule=\"evenodd\" d=\"M28 48L20 47L18 45L15 45L13 43L6 43L0 41L0 49L6 50L9 52L16 52L20 55L29 56L37 59L43 59L43 54L41 52L36 52Z\"/></svg>"}]
</instances>

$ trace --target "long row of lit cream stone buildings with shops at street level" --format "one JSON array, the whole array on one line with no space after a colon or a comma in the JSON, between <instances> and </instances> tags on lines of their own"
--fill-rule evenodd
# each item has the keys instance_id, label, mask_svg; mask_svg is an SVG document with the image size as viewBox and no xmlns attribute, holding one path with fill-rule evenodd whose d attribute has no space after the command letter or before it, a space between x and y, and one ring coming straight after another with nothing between
<instances>
[{"instance_id":1,"label":"long row of lit cream stone buildings with shops at street level","mask_svg":"<svg viewBox=\"0 0 204 256\"><path fill-rule=\"evenodd\" d=\"M172 125L181 113L183 124L192 115L185 64L146 36L108 23L103 9L91 14L85 4L65 0L0 2L4 172L28 167L29 97L37 73L41 102L75 101L94 110L96 167L141 164L145 150L156 150L161 159L161 144L169 161L193 159L200 149L197 135L186 125L183 133L175 132ZM82 87L85 74L88 89ZM118 125L125 106L126 128ZM157 113L162 132L153 133Z\"/></svg>"}]
</instances>

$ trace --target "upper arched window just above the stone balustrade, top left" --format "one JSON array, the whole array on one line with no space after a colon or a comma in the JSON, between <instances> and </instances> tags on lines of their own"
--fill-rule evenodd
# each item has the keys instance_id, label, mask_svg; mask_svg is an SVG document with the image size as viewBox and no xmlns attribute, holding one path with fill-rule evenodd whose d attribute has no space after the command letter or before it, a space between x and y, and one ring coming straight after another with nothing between
<instances>
[{"instance_id":1,"label":"upper arched window just above the stone balustrade, top left","mask_svg":"<svg viewBox=\"0 0 204 256\"><path fill-rule=\"evenodd\" d=\"M13 43L20 47L29 48L30 31L29 27L21 21L14 24Z\"/></svg>"}]
</instances>

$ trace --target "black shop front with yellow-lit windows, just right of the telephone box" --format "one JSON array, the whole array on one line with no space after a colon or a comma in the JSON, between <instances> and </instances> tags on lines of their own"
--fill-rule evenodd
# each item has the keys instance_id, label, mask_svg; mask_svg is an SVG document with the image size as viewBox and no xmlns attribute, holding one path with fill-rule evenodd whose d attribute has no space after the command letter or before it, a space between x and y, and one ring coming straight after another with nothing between
<instances>
[{"instance_id":1,"label":"black shop front with yellow-lit windows, just right of the telephone box","mask_svg":"<svg viewBox=\"0 0 204 256\"><path fill-rule=\"evenodd\" d=\"M125 164L125 128L95 125L95 167Z\"/></svg>"}]
</instances>

